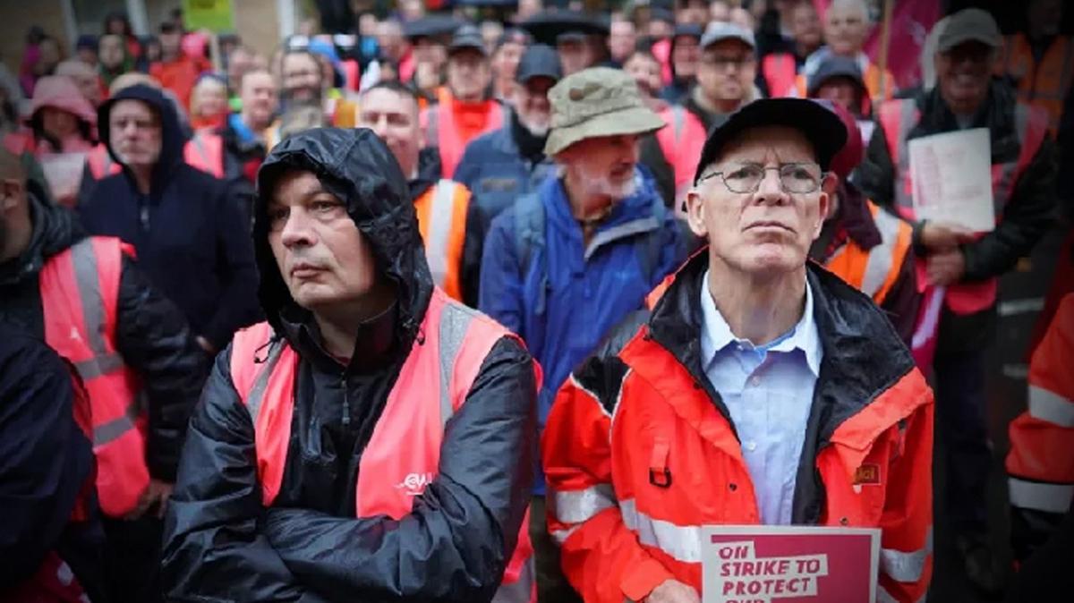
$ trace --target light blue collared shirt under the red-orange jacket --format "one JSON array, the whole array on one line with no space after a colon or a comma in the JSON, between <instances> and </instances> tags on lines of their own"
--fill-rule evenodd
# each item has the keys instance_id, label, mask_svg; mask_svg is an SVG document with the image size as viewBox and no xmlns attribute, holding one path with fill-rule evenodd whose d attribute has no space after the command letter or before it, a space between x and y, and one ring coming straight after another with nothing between
<instances>
[{"instance_id":1,"label":"light blue collared shirt under the red-orange jacket","mask_svg":"<svg viewBox=\"0 0 1074 603\"><path fill-rule=\"evenodd\" d=\"M795 482L813 388L824 355L813 293L806 283L806 310L790 330L765 345L738 339L701 286L701 367L720 393L738 429L757 508L765 525L789 525Z\"/></svg>"}]
</instances>

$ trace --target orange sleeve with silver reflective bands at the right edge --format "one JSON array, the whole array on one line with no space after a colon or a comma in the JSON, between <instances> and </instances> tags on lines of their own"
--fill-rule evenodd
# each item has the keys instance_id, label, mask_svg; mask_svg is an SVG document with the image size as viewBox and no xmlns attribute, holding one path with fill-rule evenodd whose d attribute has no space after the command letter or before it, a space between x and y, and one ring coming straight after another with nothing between
<instances>
[{"instance_id":1,"label":"orange sleeve with silver reflective bands at the right edge","mask_svg":"<svg viewBox=\"0 0 1074 603\"><path fill-rule=\"evenodd\" d=\"M1011 422L1011 505L1066 513L1074 500L1074 294L1051 319L1029 365L1029 409Z\"/></svg>"}]
</instances>

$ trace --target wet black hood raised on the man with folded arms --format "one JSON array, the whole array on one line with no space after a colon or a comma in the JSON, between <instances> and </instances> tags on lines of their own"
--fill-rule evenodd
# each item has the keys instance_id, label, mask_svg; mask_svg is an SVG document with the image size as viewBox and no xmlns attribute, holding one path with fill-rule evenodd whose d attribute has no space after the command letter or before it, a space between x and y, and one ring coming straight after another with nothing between
<instances>
[{"instance_id":1,"label":"wet black hood raised on the man with folded arms","mask_svg":"<svg viewBox=\"0 0 1074 603\"><path fill-rule=\"evenodd\" d=\"M261 276L258 297L268 323L276 333L285 333L282 312L289 317L306 312L291 297L268 246L267 195L290 170L313 172L347 204L347 212L373 247L378 271L396 285L395 338L401 344L396 349L408 350L425 315L433 278L406 177L388 146L365 128L316 128L294 134L276 145L258 171L253 251Z\"/></svg>"}]
</instances>

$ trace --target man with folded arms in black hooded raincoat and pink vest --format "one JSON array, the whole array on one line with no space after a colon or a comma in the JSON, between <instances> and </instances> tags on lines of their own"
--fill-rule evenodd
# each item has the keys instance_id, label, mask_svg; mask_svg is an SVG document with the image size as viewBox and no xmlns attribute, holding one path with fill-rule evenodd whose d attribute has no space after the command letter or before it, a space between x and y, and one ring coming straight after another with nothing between
<instances>
[{"instance_id":1,"label":"man with folded arms in black hooded raincoat and pink vest","mask_svg":"<svg viewBox=\"0 0 1074 603\"><path fill-rule=\"evenodd\" d=\"M527 601L508 559L533 479L529 354L433 285L406 178L372 131L291 136L258 191L268 322L217 356L191 420L169 595L461 603L514 579L524 599L508 600Z\"/></svg>"}]
</instances>

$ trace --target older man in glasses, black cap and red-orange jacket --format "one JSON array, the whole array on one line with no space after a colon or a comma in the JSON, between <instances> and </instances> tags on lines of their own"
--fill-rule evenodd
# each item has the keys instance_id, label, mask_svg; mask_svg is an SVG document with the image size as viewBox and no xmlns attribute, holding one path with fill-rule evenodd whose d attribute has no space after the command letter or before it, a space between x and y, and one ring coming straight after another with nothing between
<instances>
[{"instance_id":1,"label":"older man in glasses, black cap and red-orange jacket","mask_svg":"<svg viewBox=\"0 0 1074 603\"><path fill-rule=\"evenodd\" d=\"M880 528L877 601L925 595L932 394L884 313L807 262L845 139L812 101L732 114L687 196L708 249L560 391L549 531L585 601L697 603L713 524Z\"/></svg>"}]
</instances>

